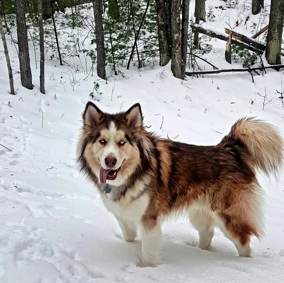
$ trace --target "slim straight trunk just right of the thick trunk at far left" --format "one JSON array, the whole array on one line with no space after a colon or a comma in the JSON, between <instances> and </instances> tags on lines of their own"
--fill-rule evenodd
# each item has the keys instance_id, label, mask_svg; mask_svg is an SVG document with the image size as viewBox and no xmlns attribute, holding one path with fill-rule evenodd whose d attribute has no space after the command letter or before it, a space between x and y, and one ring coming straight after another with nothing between
<instances>
[{"instance_id":1,"label":"slim straight trunk just right of the thick trunk at far left","mask_svg":"<svg viewBox=\"0 0 284 283\"><path fill-rule=\"evenodd\" d=\"M44 42L43 42L42 0L37 0L37 10L38 10L39 52L40 52L39 88L40 88L40 92L45 94L45 89L44 89Z\"/></svg>"}]
</instances>

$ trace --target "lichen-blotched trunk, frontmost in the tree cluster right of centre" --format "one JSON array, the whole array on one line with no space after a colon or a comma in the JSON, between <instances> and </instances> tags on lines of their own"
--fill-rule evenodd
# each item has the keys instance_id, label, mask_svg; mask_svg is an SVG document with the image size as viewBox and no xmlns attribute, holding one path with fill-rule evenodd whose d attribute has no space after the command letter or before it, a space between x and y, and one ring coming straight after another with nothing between
<instances>
[{"instance_id":1,"label":"lichen-blotched trunk, frontmost in the tree cluster right of centre","mask_svg":"<svg viewBox=\"0 0 284 283\"><path fill-rule=\"evenodd\" d=\"M172 0L171 3L172 22L172 72L178 79L184 79L185 63L181 58L181 38L180 38L180 5L179 0Z\"/></svg>"}]
</instances>

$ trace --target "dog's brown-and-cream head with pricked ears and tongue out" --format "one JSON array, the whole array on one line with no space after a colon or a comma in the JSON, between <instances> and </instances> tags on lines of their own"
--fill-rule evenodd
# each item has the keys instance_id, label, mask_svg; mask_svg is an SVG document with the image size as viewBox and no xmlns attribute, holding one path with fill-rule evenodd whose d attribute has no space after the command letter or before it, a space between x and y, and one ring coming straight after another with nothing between
<instances>
[{"instance_id":1,"label":"dog's brown-and-cream head with pricked ears and tongue out","mask_svg":"<svg viewBox=\"0 0 284 283\"><path fill-rule=\"evenodd\" d=\"M143 130L140 104L108 114L88 102L78 154L103 184L122 185L141 163L137 133Z\"/></svg>"}]
</instances>

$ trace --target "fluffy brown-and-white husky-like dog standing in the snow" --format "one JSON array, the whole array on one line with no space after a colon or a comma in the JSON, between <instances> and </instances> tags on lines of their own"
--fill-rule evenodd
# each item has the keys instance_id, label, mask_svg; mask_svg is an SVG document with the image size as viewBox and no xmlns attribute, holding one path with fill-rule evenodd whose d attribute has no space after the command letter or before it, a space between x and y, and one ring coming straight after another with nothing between
<instances>
[{"instance_id":1,"label":"fluffy brown-and-white husky-like dog standing in the snow","mask_svg":"<svg viewBox=\"0 0 284 283\"><path fill-rule=\"evenodd\" d=\"M160 263L161 224L188 216L206 249L214 227L239 256L251 257L250 239L264 235L264 191L256 174L283 167L279 130L243 117L221 142L198 146L163 139L143 125L139 103L109 114L88 102L77 144L77 162L116 217L124 240L142 242L141 267Z\"/></svg>"}]
</instances>

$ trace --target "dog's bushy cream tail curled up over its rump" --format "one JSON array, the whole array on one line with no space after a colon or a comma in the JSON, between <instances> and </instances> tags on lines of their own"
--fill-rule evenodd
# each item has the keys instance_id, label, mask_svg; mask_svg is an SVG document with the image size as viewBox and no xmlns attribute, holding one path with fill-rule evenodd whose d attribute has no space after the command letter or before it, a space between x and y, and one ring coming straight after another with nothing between
<instances>
[{"instance_id":1,"label":"dog's bushy cream tail curled up over its rump","mask_svg":"<svg viewBox=\"0 0 284 283\"><path fill-rule=\"evenodd\" d=\"M275 178L283 168L284 141L279 130L272 124L251 118L239 119L223 138L241 142L250 154L250 164L255 170L261 170L266 176ZM221 142L222 143L222 142Z\"/></svg>"}]
</instances>

